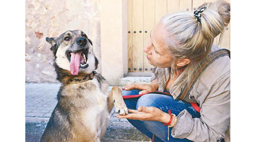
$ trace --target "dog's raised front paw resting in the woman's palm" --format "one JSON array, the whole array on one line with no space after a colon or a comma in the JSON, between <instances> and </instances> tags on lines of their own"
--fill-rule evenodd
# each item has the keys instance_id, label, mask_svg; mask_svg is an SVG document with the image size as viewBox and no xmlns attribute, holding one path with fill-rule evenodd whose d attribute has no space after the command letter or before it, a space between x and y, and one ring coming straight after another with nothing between
<instances>
[{"instance_id":1,"label":"dog's raised front paw resting in the woman's palm","mask_svg":"<svg viewBox=\"0 0 256 142\"><path fill-rule=\"evenodd\" d=\"M119 87L114 86L112 88L112 93L115 112L117 112L119 115L128 114L128 108L125 105L125 101L123 101L122 90Z\"/></svg>"}]
</instances>

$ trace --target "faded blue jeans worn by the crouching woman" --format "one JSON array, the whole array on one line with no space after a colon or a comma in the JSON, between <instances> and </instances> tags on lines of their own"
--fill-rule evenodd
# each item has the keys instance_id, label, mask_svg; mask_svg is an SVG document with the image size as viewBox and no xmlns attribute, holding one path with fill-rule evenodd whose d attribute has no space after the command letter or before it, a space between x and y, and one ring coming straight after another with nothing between
<instances>
[{"instance_id":1,"label":"faded blue jeans worn by the crouching woman","mask_svg":"<svg viewBox=\"0 0 256 142\"><path fill-rule=\"evenodd\" d=\"M122 91L123 95L137 95L139 94L138 89L133 89L129 91ZM200 118L200 113L197 112L190 103L174 100L171 96L160 95L160 94L146 94L140 98L130 98L125 99L125 104L127 108L137 110L139 106L152 106L157 107L160 110L168 113L168 110L171 110L172 114L176 116L186 109L191 115L192 118ZM188 139L177 139L171 136L171 130L169 133L169 140L167 140L167 126L164 126L162 122L156 121L141 121L141 120L131 120L127 119L135 128L147 135L152 139L153 133L156 136L156 141L190 141Z\"/></svg>"}]
</instances>

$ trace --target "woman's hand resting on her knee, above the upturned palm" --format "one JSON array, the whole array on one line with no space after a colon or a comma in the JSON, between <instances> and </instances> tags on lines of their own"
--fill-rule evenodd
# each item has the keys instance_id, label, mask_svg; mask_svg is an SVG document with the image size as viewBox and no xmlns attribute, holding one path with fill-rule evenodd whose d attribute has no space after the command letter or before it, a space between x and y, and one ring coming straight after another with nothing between
<instances>
[{"instance_id":1,"label":"woman's hand resting on her knee, above the upturned palm","mask_svg":"<svg viewBox=\"0 0 256 142\"><path fill-rule=\"evenodd\" d=\"M143 83L131 83L129 85L123 86L123 90L131 90L131 89L139 89L142 90L139 94L148 93L150 91L156 91L158 89L158 81L153 80L150 84L143 84Z\"/></svg>"}]
</instances>

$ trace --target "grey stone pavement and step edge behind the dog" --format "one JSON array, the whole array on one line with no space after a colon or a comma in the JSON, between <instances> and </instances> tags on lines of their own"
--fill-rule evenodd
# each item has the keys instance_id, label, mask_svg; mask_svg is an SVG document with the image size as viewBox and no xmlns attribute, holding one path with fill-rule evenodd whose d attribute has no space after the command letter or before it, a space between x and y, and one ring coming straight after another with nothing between
<instances>
[{"instance_id":1,"label":"grey stone pavement and step edge behind the dog","mask_svg":"<svg viewBox=\"0 0 256 142\"><path fill-rule=\"evenodd\" d=\"M39 141L57 104L60 83L26 83L26 141ZM109 89L110 90L110 89ZM126 119L118 120L112 110L106 141L150 141Z\"/></svg>"}]
</instances>

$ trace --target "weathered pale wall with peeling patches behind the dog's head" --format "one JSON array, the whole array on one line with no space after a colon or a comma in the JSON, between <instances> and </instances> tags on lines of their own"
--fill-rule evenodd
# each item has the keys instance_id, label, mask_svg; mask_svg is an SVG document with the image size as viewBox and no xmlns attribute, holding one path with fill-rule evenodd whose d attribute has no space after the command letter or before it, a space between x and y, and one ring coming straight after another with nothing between
<instances>
[{"instance_id":1,"label":"weathered pale wall with peeling patches behind the dog's head","mask_svg":"<svg viewBox=\"0 0 256 142\"><path fill-rule=\"evenodd\" d=\"M46 37L82 30L93 42L101 73L100 0L26 0L26 82L57 82Z\"/></svg>"}]
</instances>

